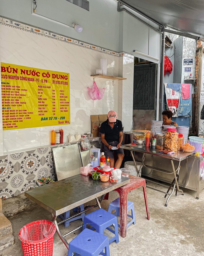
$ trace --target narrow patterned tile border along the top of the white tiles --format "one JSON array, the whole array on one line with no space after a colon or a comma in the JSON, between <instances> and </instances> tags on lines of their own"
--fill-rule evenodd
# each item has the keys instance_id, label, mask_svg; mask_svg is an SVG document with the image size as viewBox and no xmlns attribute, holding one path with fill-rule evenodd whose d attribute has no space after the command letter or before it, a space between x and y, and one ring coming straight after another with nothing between
<instances>
[{"instance_id":1,"label":"narrow patterned tile border along the top of the white tiles","mask_svg":"<svg viewBox=\"0 0 204 256\"><path fill-rule=\"evenodd\" d=\"M20 23L18 21L7 19L7 18L0 17L0 24L8 26L8 27L13 27L13 28L17 28L17 29L20 29L20 30L24 30L24 31L34 33L34 34L37 34L37 35L46 36L46 37L49 37L49 38L52 38L52 39L55 39L55 40L58 40L58 41L61 41L61 42L65 42L65 43L68 43L68 44L74 44L74 45L84 47L84 48L87 48L87 49L91 49L91 50L94 50L94 51L97 51L97 52L103 52L103 53L113 55L113 56L116 56L116 57L125 56L125 57L128 57L128 58L134 59L134 55L131 55L130 53L111 51L111 50L108 50L108 49L105 49L105 48L98 47L98 46L93 45L93 44L88 44L86 42L78 41L78 40L70 38L70 37L62 36L62 35L56 34L54 32L50 32L50 31L47 31L47 30L36 28L36 27L30 26L30 25Z\"/></svg>"}]
</instances>

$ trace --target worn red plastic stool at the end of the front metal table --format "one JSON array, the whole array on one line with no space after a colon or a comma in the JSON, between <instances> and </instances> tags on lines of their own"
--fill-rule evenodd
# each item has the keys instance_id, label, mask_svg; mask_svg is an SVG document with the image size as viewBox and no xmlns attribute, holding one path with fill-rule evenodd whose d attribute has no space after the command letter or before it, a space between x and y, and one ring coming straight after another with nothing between
<instances>
[{"instance_id":1,"label":"worn red plastic stool at the end of the front metal table","mask_svg":"<svg viewBox=\"0 0 204 256\"><path fill-rule=\"evenodd\" d=\"M147 212L147 219L150 220L149 217L149 208L147 203L147 191L146 191L146 181L143 178L136 177L133 175L129 175L130 183L120 187L116 188L115 191L118 192L120 196L120 235L122 237L126 237L127 232L127 202L128 202L128 193L139 187L143 187L143 193L144 193L144 202L146 206L146 212Z\"/></svg>"}]
</instances>

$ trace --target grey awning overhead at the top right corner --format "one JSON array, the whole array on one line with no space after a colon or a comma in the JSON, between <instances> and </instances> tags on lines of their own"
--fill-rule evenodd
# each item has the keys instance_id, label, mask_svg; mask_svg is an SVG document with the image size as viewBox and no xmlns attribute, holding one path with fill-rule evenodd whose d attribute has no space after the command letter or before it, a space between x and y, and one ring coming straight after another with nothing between
<instances>
[{"instance_id":1,"label":"grey awning overhead at the top right corner","mask_svg":"<svg viewBox=\"0 0 204 256\"><path fill-rule=\"evenodd\" d=\"M163 26L204 37L203 0L124 0L122 2Z\"/></svg>"}]
</instances>

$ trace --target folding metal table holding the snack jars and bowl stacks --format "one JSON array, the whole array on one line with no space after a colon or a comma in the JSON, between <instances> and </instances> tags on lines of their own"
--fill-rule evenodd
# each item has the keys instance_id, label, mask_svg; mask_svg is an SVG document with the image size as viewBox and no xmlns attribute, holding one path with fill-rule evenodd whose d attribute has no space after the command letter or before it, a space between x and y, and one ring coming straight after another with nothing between
<instances>
[{"instance_id":1,"label":"folding metal table holding the snack jars and bowl stacks","mask_svg":"<svg viewBox=\"0 0 204 256\"><path fill-rule=\"evenodd\" d=\"M132 146L132 145L130 145ZM166 200L166 203L165 203L165 206L167 206L168 204L168 201L170 199L170 197L172 196L173 192L174 192L174 189L175 187L177 188L178 191L181 192L182 195L184 195L184 192L182 189L179 188L179 184L178 184L178 175L179 175L179 171L180 171L180 163L181 161L183 161L184 159L190 157L190 156L193 156L194 153L186 153L186 152L183 152L183 150L179 150L177 152L175 152L174 155L167 155L167 154L164 154L164 153L159 153L159 149L155 149L155 148L148 148L148 147L145 147L145 146L140 146L140 145L136 145L134 147L129 147L129 146L121 146L121 148L123 149L127 149L130 151L131 153L131 156L133 158L133 161L135 163L135 167L138 171L138 176L140 175L140 172L142 170L142 168L140 168L140 170L138 170L137 168L137 164L135 162L135 157L133 155L133 152L136 151L136 152L140 152L142 153L142 166L145 166L147 168L150 168L152 170L155 170L155 171L158 171L158 172L164 172L166 174L173 174L174 175L174 180L172 181L172 185L173 185L173 188L172 188L172 191L171 193L169 194L169 190L165 193L163 191L160 191L166 195L169 195L167 200ZM145 164L145 155L146 154L149 154L149 155L153 155L153 156L160 156L162 158L166 158L166 159L170 159L171 160L171 167L172 167L172 171L168 171L168 170L164 170L162 168L158 168L158 167L155 167L155 166L152 166L152 165L147 165ZM178 165L177 167L174 166L174 161L178 162ZM177 191L176 191L177 193Z\"/></svg>"}]
</instances>

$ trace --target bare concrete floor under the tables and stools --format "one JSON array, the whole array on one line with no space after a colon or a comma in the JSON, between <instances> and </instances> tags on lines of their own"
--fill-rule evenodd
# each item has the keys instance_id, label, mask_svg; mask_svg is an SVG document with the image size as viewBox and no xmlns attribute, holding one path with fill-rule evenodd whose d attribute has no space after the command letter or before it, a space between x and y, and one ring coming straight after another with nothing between
<instances>
[{"instance_id":1,"label":"bare concrete floor under the tables and stools","mask_svg":"<svg viewBox=\"0 0 204 256\"><path fill-rule=\"evenodd\" d=\"M157 189L162 187L151 182L147 186ZM166 188L164 188L166 190ZM147 220L142 188L135 189L128 194L128 200L135 204L136 224L130 225L127 236L122 238L119 233L120 243L110 244L110 254L116 255L151 255L151 256L203 256L204 255L204 191L200 193L200 199L195 199L196 192L183 189L184 196L178 192L173 195L165 207L164 194L147 188L150 220ZM109 194L109 200L103 200L102 208L107 210L108 204L118 197L113 191ZM89 204L95 204L95 200ZM6 203L3 204L3 208ZM97 209L97 208L95 208ZM0 256L23 256L18 232L25 224L40 219L51 220L49 212L36 205L32 210L21 212L9 217L12 223L15 244L0 252ZM61 225L62 233L81 225L77 220L68 228ZM81 230L67 236L71 241ZM67 249L55 233L53 256L66 256Z\"/></svg>"}]
</instances>

